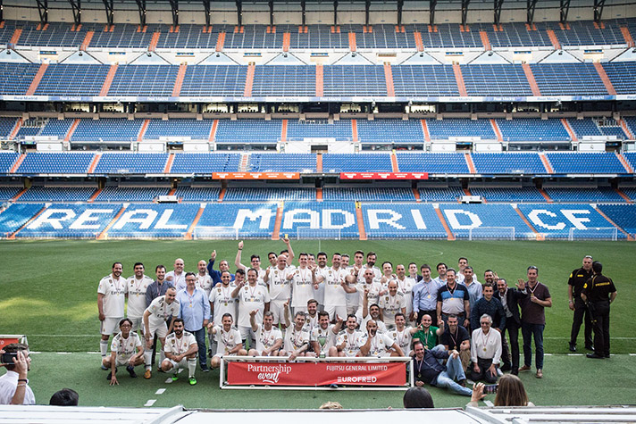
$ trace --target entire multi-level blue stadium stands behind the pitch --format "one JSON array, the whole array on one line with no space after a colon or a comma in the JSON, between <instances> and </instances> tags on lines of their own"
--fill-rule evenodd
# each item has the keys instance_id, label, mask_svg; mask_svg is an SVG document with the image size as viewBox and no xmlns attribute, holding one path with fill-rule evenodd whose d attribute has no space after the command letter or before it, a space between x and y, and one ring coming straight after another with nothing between
<instances>
[{"instance_id":1,"label":"entire multi-level blue stadium stands behind the pitch","mask_svg":"<svg viewBox=\"0 0 636 424\"><path fill-rule=\"evenodd\" d=\"M636 18L166 22L0 23L0 237L636 236Z\"/></svg>"}]
</instances>

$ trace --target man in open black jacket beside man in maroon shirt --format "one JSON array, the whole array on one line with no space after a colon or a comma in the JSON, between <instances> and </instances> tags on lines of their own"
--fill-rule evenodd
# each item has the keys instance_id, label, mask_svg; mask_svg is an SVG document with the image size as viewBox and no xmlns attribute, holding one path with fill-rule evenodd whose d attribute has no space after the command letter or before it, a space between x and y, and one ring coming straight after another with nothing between
<instances>
[{"instance_id":1,"label":"man in open black jacket beside man in maroon shirt","mask_svg":"<svg viewBox=\"0 0 636 424\"><path fill-rule=\"evenodd\" d=\"M506 339L506 330L508 331L508 337L510 337L510 351L512 353L512 365L508 358L507 347L502 349L501 358L504 361L504 366L501 370L510 369L512 374L519 374L519 328L521 328L521 315L519 314L519 298L523 295L515 288L508 287L506 279L497 279L497 292L496 297L504 306L504 312L506 312L506 328L501 328L502 341ZM510 368L509 368L510 367Z\"/></svg>"}]
</instances>

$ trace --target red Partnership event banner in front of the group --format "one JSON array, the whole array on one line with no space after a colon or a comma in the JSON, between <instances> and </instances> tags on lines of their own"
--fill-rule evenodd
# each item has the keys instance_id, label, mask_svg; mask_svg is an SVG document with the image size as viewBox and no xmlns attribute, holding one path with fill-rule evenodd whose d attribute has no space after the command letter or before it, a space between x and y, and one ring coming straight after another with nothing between
<instances>
[{"instance_id":1,"label":"red Partnership event banner in front of the group","mask_svg":"<svg viewBox=\"0 0 636 424\"><path fill-rule=\"evenodd\" d=\"M406 362L229 362L230 386L404 386Z\"/></svg>"}]
</instances>

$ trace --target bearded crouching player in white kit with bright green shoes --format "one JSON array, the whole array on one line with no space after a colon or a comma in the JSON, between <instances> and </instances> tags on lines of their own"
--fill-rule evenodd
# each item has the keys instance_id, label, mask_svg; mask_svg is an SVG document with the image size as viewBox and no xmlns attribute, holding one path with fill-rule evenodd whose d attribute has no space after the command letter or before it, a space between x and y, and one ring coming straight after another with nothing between
<instances>
[{"instance_id":1,"label":"bearded crouching player in white kit with bright green shoes","mask_svg":"<svg viewBox=\"0 0 636 424\"><path fill-rule=\"evenodd\" d=\"M197 370L197 339L183 329L183 320L177 318L173 322L174 333L165 337L163 352L165 359L161 363L163 372L173 370L172 381L179 379L179 370L188 369L190 386L197 384L195 370Z\"/></svg>"}]
</instances>

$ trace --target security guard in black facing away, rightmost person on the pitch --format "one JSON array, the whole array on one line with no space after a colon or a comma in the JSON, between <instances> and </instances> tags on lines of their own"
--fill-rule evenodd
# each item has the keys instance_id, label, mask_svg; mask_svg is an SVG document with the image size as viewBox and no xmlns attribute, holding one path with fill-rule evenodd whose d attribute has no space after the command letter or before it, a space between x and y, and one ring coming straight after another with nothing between
<instances>
[{"instance_id":1,"label":"security guard in black facing away, rightmost person on the pitch","mask_svg":"<svg viewBox=\"0 0 636 424\"><path fill-rule=\"evenodd\" d=\"M594 353L588 358L609 358L609 304L616 298L616 287L612 279L601 274L603 265L592 262L594 276L587 280L581 298L588 304L590 320L594 324Z\"/></svg>"}]
</instances>

